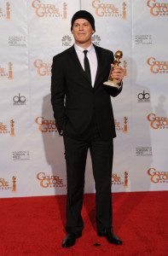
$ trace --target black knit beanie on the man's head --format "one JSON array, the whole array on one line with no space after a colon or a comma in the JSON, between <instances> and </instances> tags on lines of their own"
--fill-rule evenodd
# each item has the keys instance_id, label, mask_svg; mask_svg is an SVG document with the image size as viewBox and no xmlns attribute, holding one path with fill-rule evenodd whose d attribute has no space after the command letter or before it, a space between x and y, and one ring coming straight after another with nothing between
<instances>
[{"instance_id":1,"label":"black knit beanie on the man's head","mask_svg":"<svg viewBox=\"0 0 168 256\"><path fill-rule=\"evenodd\" d=\"M78 19L88 20L90 22L90 25L92 26L93 30L96 32L94 17L89 12L87 12L85 10L80 10L72 16L71 31L72 31L72 26L73 26L74 21L78 20Z\"/></svg>"}]
</instances>

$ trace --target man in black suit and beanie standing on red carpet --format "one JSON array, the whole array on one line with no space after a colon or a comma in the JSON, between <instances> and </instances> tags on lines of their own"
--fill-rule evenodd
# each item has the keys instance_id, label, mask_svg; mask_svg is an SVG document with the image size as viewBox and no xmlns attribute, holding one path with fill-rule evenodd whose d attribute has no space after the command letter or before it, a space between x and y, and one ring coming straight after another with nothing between
<instances>
[{"instance_id":1,"label":"man in black suit and beanie standing on red carpet","mask_svg":"<svg viewBox=\"0 0 168 256\"><path fill-rule=\"evenodd\" d=\"M122 241L112 229L111 177L113 137L116 137L110 96L122 90L124 72L115 67L112 78L119 89L104 85L113 63L113 52L92 44L94 17L81 10L72 16L75 44L55 55L52 65L51 102L55 122L63 135L67 162L67 236L62 247L72 247L84 228L81 209L88 149L96 183L98 236L110 243ZM65 101L66 98L66 101Z\"/></svg>"}]
</instances>

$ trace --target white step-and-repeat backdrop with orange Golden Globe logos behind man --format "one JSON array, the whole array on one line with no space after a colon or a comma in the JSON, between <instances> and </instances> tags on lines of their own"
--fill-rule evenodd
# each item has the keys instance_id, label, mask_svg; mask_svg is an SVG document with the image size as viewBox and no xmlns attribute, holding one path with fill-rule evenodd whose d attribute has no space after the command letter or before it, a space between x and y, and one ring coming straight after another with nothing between
<instances>
[{"instance_id":1,"label":"white step-and-repeat backdrop with orange Golden Globe logos behind man","mask_svg":"<svg viewBox=\"0 0 168 256\"><path fill-rule=\"evenodd\" d=\"M96 20L94 44L123 51L124 88L112 98L113 192L168 189L168 0L0 0L2 198L67 193L50 76L53 56L73 44L79 9ZM94 192L89 153L85 193Z\"/></svg>"}]
</instances>

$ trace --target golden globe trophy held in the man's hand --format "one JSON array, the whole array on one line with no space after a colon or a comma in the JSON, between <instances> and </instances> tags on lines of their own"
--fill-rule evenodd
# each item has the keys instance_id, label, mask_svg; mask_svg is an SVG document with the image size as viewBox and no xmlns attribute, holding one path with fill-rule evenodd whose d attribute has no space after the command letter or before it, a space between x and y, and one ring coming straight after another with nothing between
<instances>
[{"instance_id":1,"label":"golden globe trophy held in the man's hand","mask_svg":"<svg viewBox=\"0 0 168 256\"><path fill-rule=\"evenodd\" d=\"M116 79L113 79L111 75L113 73L114 67L119 66L119 63L121 63L119 60L123 57L123 52L121 50L116 51L116 53L114 54L114 57L116 58L116 60L113 61L114 66L111 66L108 80L107 80L107 82L105 82L103 84L108 85L108 86L117 87L119 89L120 86L116 83Z\"/></svg>"}]
</instances>

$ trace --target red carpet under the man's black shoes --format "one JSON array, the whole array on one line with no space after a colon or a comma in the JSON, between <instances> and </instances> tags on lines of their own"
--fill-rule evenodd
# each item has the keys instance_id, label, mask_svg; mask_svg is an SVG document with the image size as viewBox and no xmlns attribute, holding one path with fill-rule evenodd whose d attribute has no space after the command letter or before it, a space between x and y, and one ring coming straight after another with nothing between
<instances>
[{"instance_id":1,"label":"red carpet under the man's black shoes","mask_svg":"<svg viewBox=\"0 0 168 256\"><path fill-rule=\"evenodd\" d=\"M168 191L113 194L113 230L123 240L115 246L96 236L95 195L84 195L83 236L71 248L61 248L65 195L1 199L0 255L168 255L167 198Z\"/></svg>"}]
</instances>

